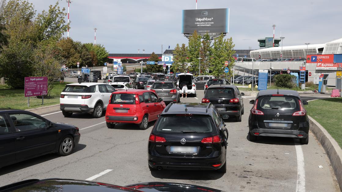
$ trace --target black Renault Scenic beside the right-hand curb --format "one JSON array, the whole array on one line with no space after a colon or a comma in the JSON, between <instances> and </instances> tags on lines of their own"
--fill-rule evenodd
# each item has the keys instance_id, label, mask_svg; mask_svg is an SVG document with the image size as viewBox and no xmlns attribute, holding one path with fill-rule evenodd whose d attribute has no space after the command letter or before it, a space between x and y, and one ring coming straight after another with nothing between
<instances>
[{"instance_id":1,"label":"black Renault Scenic beside the right-hand curb","mask_svg":"<svg viewBox=\"0 0 342 192\"><path fill-rule=\"evenodd\" d=\"M306 110L297 91L262 90L254 104L248 119L249 140L259 136L299 138L302 144L309 142L309 122Z\"/></svg>"}]
</instances>

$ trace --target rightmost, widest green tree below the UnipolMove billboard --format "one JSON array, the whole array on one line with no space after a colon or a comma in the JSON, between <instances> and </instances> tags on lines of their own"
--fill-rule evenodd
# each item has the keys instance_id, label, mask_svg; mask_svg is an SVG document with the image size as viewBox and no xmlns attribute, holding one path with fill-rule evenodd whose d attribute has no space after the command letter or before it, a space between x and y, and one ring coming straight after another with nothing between
<instances>
[{"instance_id":1,"label":"rightmost, widest green tree below the UnipolMove billboard","mask_svg":"<svg viewBox=\"0 0 342 192\"><path fill-rule=\"evenodd\" d=\"M220 77L224 75L224 62L230 61L228 65L229 68L229 77L232 76L232 68L234 66L234 44L232 38L224 39L224 35L221 34L218 38L214 40L213 48L211 50L211 56L209 58L210 67L209 69L212 71L212 75Z\"/></svg>"}]
</instances>

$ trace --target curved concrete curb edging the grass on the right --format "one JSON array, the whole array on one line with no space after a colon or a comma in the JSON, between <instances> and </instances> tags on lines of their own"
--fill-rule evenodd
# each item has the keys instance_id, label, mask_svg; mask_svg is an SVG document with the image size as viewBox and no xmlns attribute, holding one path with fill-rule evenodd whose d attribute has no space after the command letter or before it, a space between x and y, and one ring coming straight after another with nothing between
<instances>
[{"instance_id":1,"label":"curved concrete curb edging the grass on the right","mask_svg":"<svg viewBox=\"0 0 342 192\"><path fill-rule=\"evenodd\" d=\"M323 146L327 153L332 169L336 175L340 190L342 191L342 149L334 138L322 127L315 119L310 116L310 130L315 134L318 142Z\"/></svg>"}]
</instances>

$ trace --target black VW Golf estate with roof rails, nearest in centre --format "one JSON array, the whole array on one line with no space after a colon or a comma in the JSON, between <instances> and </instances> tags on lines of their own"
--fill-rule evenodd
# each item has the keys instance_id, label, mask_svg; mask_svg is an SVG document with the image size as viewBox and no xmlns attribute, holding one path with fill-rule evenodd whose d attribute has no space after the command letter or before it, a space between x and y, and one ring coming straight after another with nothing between
<instances>
[{"instance_id":1,"label":"black VW Golf estate with roof rails, nearest in centre","mask_svg":"<svg viewBox=\"0 0 342 192\"><path fill-rule=\"evenodd\" d=\"M222 115L228 118L227 115ZM169 104L148 139L148 167L226 172L228 130L211 103Z\"/></svg>"}]
</instances>

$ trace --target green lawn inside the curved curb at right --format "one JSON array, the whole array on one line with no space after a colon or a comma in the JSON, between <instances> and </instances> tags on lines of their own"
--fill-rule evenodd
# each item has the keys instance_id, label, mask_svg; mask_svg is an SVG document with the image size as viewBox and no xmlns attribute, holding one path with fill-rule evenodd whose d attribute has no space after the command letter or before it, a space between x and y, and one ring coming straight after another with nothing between
<instances>
[{"instance_id":1,"label":"green lawn inside the curved curb at right","mask_svg":"<svg viewBox=\"0 0 342 192\"><path fill-rule=\"evenodd\" d=\"M342 148L342 98L318 99L305 105L307 114L314 118Z\"/></svg>"}]
</instances>

